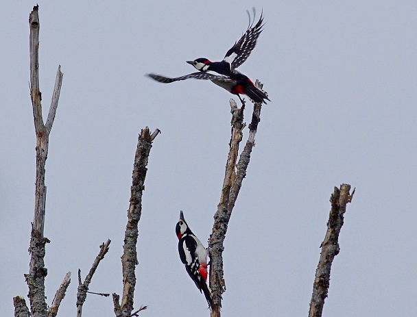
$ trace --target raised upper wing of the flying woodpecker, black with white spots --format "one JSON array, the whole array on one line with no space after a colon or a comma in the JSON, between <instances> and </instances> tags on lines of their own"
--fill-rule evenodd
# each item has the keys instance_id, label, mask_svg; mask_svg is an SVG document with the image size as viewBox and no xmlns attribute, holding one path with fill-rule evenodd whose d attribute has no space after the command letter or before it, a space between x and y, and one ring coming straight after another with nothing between
<instances>
[{"instance_id":1,"label":"raised upper wing of the flying woodpecker, black with white spots","mask_svg":"<svg viewBox=\"0 0 417 317\"><path fill-rule=\"evenodd\" d=\"M245 62L252 49L254 49L255 45L257 45L257 39L259 38L259 34L261 34L262 27L263 27L263 16L261 12L261 17L256 25L253 25L253 21L251 23L250 14L249 15L249 26L246 30L245 34L238 40L235 45L231 49L229 49L224 56L224 62L230 64L230 71L233 71L235 68L239 67L243 62ZM253 8L253 17L255 17L255 9Z\"/></svg>"}]
</instances>

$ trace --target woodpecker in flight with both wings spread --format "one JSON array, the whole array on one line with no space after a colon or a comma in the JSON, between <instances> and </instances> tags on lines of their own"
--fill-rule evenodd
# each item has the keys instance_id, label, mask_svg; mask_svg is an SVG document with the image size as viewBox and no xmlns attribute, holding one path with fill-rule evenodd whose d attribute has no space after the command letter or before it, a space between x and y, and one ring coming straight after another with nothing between
<instances>
[{"instance_id":1,"label":"woodpecker in flight with both wings spread","mask_svg":"<svg viewBox=\"0 0 417 317\"><path fill-rule=\"evenodd\" d=\"M228 92L237 94L242 103L244 102L239 94L246 94L246 96L254 102L266 103L265 99L268 101L270 100L267 97L267 93L257 88L246 75L239 73L235 69L248 59L250 53L257 44L257 39L259 34L261 34L263 27L262 23L262 14L259 21L255 25L253 25L253 22L251 23L251 18L249 16L249 26L245 34L243 34L243 36L235 42L235 45L227 51L221 62L211 62L206 58L198 58L197 60L187 61L187 63L193 65L198 71L200 71L198 73L191 73L189 75L175 78L169 78L153 73L147 75L161 83L171 83L189 78L208 79L217 86L226 89ZM207 73L208 71L213 71L219 75Z\"/></svg>"}]
</instances>

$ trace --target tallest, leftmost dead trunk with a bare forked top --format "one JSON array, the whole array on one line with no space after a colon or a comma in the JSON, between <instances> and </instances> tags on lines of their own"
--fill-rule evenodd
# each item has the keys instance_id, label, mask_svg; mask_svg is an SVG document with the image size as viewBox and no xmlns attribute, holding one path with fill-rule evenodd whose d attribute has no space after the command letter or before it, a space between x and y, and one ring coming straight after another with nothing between
<instances>
[{"instance_id":1,"label":"tallest, leftmost dead trunk with a bare forked top","mask_svg":"<svg viewBox=\"0 0 417 317\"><path fill-rule=\"evenodd\" d=\"M47 276L47 268L45 268L44 257L45 244L49 240L43 236L47 194L47 188L45 186L45 163L48 154L49 133L58 107L63 76L60 71L60 66L58 66L47 124L44 125L42 106L40 103L42 97L39 89L39 27L38 5L36 5L29 15L30 97L32 99L36 133L35 210L29 245L29 274L25 275L27 286L29 287L28 296L33 317L47 316L47 304L45 303L45 277ZM56 309L58 310L58 307Z\"/></svg>"}]
</instances>

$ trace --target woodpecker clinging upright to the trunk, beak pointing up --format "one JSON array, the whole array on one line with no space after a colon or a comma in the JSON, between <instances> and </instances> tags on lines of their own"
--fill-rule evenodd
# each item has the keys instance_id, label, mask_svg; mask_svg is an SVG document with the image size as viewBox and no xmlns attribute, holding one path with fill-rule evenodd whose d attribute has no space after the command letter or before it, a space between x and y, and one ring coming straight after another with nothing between
<instances>
[{"instance_id":1,"label":"woodpecker clinging upright to the trunk, beak pointing up","mask_svg":"<svg viewBox=\"0 0 417 317\"><path fill-rule=\"evenodd\" d=\"M189 276L194 281L195 286L204 292L208 306L212 305L211 292L207 286L207 255L208 251L200 240L191 231L184 219L184 214L180 212L180 220L175 228L178 237L178 252L181 262L185 265Z\"/></svg>"}]
</instances>

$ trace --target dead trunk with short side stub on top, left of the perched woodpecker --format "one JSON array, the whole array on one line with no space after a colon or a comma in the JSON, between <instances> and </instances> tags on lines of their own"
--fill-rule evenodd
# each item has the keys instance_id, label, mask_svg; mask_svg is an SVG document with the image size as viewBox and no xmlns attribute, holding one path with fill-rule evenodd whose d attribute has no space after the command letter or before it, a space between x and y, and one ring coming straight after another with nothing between
<instances>
[{"instance_id":1,"label":"dead trunk with short side stub on top, left of the perched woodpecker","mask_svg":"<svg viewBox=\"0 0 417 317\"><path fill-rule=\"evenodd\" d=\"M138 223L142 213L142 194L145 189L146 166L152 148L152 141L158 133L160 131L156 129L154 133L150 134L149 128L145 127L139 135L136 154L134 155L128 224L126 225L123 255L121 256L123 272L123 295L121 303L119 302L119 295L113 294L114 311L117 317L132 316L134 288L136 286L135 268L138 264L136 242L139 233Z\"/></svg>"}]
</instances>

